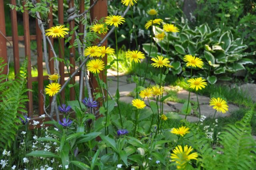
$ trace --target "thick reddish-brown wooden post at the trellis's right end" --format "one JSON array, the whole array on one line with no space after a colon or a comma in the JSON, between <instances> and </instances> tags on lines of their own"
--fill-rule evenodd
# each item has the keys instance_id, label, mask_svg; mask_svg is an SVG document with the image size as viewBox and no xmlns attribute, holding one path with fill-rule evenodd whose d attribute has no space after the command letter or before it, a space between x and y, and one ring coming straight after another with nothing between
<instances>
[{"instance_id":1,"label":"thick reddish-brown wooden post at the trellis's right end","mask_svg":"<svg viewBox=\"0 0 256 170\"><path fill-rule=\"evenodd\" d=\"M92 5L94 3L93 0L90 0L90 5ZM90 10L90 16L91 16L91 21L93 21L94 19L96 20L100 20L103 17L108 16L108 6L107 6L107 1L105 0L100 0L96 3L96 5L91 8ZM101 38L103 38L104 35L101 35ZM99 42L99 40L96 40L96 44L97 42ZM102 46L107 46L107 40L104 41L104 43L102 44ZM107 57L102 58L102 60L104 61L105 65L107 64ZM104 82L106 82L106 76L102 77L101 72L99 73L100 78L102 78L102 80ZM90 80L92 82L92 86L95 89L96 87L98 87L98 83L96 81L96 78L94 78L93 74L90 74Z\"/></svg>"}]
</instances>

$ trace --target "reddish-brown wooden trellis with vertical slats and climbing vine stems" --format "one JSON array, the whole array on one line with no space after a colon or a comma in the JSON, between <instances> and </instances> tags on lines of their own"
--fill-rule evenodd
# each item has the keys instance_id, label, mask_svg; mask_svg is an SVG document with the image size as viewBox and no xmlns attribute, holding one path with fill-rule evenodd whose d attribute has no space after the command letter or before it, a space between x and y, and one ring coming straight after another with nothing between
<instances>
[{"instance_id":1,"label":"reddish-brown wooden trellis with vertical slats and climbing vine stems","mask_svg":"<svg viewBox=\"0 0 256 170\"><path fill-rule=\"evenodd\" d=\"M39 0L38 0L39 1ZM66 24L64 23L64 6L63 2L64 0L58 0L58 24ZM79 13L81 14L84 12L84 1L85 0L80 0L80 6L79 6ZM94 0L90 0L90 4L93 4ZM10 0L10 4L16 5L16 0ZM25 0L22 1L22 5L24 6ZM74 0L70 0L70 3L68 4L68 8L74 7ZM49 24L48 27L53 26L53 16L52 16L52 8L50 8L50 14L48 16ZM38 22L36 20L36 35L30 35L30 24L29 24L29 15L28 12L25 10L23 12L23 26L24 26L24 36L18 36L18 24L17 24L17 12L14 8L14 10L10 9L10 17L11 17L11 24L12 24L12 36L6 37L6 26L5 26L5 12L4 12L4 0L0 0L0 57L4 58L4 62L7 63L8 56L7 56L7 46L6 42L10 41L12 42L12 47L13 47L13 57L14 57L14 72L15 74L19 71L20 68L20 58L19 58L19 47L18 47L18 42L19 41L24 41L24 46L25 46L25 56L28 58L28 82L27 82L27 87L29 89L32 89L32 82L37 81L38 82L38 115L44 114L44 98L41 94L44 90L44 84L43 81L48 79L48 76L43 76L43 51L42 51L42 32L38 26ZM107 0L98 0L96 5L94 5L90 9L90 17L91 21L94 19L99 20L102 17L107 16ZM69 22L70 24L70 30L72 30L75 26L74 20ZM84 26L82 23L79 23L79 32L83 33L84 32ZM37 45L37 68L38 68L38 76L37 77L32 77L31 76L31 54L30 54L30 41L31 40L36 40L36 45ZM53 39L50 38L52 44L53 44ZM70 43L72 44L74 42L74 34L72 35L72 39L70 40ZM59 49L64 49L64 39L60 39L60 47ZM106 45L106 41L104 42L103 45ZM75 54L75 49L74 47L70 48L70 64L73 64L75 66L75 59L74 55ZM51 74L54 73L54 60L51 60L54 57L53 52L50 50L50 47L48 48L48 62L50 65L50 72ZM58 54L59 58L64 58L62 56L61 52ZM106 58L105 58L106 62ZM67 73L64 73L64 63L60 62L59 63L59 70L60 70L60 84L64 84L64 78L69 77ZM75 68L70 68L70 74L74 73ZM3 74L7 74L7 66L4 68ZM80 73L79 73L80 74ZM78 75L79 75L78 74ZM74 84L75 78L73 77L70 83ZM92 84L97 86L97 83L94 79L92 79ZM60 93L60 96L63 100L65 100L65 94L64 90ZM28 92L28 105L27 105L27 110L28 110L28 117L33 118L33 102L32 102L32 92ZM74 88L70 88L70 99L66 100L75 100L75 93L74 93Z\"/></svg>"}]
</instances>

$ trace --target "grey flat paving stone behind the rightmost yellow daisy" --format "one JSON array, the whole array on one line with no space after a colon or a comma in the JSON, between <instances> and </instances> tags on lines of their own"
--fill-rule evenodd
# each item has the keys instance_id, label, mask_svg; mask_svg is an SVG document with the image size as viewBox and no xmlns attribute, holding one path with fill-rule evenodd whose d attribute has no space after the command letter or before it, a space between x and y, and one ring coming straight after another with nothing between
<instances>
[{"instance_id":1,"label":"grey flat paving stone behind the rightmost yellow daisy","mask_svg":"<svg viewBox=\"0 0 256 170\"><path fill-rule=\"evenodd\" d=\"M239 109L239 107L234 104L228 104L228 106L229 106L228 111L225 114L216 112L215 118L219 116L221 117L230 116L232 111ZM212 106L208 104L200 105L200 110L201 110L201 115L204 115L206 117L211 117L211 118L214 116L215 109L213 109ZM197 110L197 112L199 113L199 110Z\"/></svg>"}]
</instances>

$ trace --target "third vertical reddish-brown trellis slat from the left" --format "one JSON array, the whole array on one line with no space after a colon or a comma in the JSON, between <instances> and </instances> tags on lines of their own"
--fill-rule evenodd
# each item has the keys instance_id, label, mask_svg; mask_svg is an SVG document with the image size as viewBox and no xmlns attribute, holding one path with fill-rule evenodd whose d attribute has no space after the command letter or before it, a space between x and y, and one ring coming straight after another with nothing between
<instances>
[{"instance_id":1,"label":"third vertical reddish-brown trellis slat from the left","mask_svg":"<svg viewBox=\"0 0 256 170\"><path fill-rule=\"evenodd\" d=\"M23 25L24 25L24 44L25 44L25 56L28 58L28 89L32 90L32 80L31 80L31 54L30 54L30 32L29 32L29 20L28 20L28 10L25 10L24 5L26 1L22 1L22 6L24 8L23 12ZM28 117L32 117L33 114L33 102L32 102L32 92L28 91Z\"/></svg>"}]
</instances>

